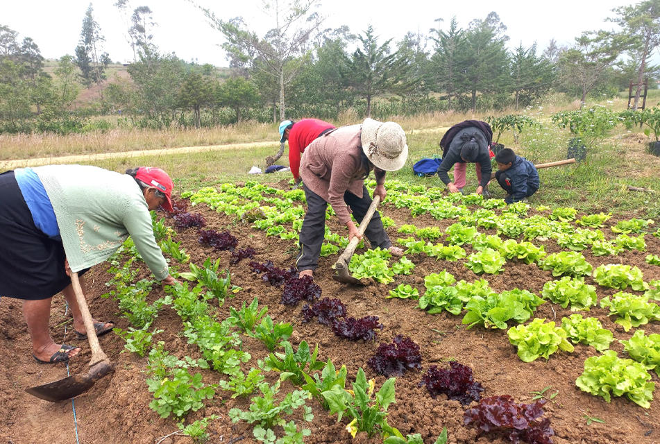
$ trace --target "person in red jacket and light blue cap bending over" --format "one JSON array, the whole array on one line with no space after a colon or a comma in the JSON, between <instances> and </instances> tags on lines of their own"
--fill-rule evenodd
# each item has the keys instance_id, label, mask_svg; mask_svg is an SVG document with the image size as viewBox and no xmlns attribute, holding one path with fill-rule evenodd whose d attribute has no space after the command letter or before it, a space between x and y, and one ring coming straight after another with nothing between
<instances>
[{"instance_id":1,"label":"person in red jacket and light blue cap bending over","mask_svg":"<svg viewBox=\"0 0 660 444\"><path fill-rule=\"evenodd\" d=\"M319 119L285 120L280 123L280 143L289 141L289 168L294 175L296 185L301 182L301 157L305 148L320 135L335 129L332 123Z\"/></svg>"}]
</instances>

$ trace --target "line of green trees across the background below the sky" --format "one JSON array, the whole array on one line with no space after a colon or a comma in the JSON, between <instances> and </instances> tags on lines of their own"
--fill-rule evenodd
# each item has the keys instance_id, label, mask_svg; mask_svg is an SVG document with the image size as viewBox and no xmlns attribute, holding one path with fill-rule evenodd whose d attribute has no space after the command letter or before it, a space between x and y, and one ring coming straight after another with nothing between
<instances>
[{"instance_id":1,"label":"line of green trees across the background below the sky","mask_svg":"<svg viewBox=\"0 0 660 444\"><path fill-rule=\"evenodd\" d=\"M660 72L649 56L660 46L660 0L615 8L619 31L585 31L566 47L552 40L508 49L507 26L496 12L459 26L437 19L428 33L382 40L369 26L325 28L319 0L266 3L271 28L258 35L241 17L224 19L199 7L219 31L229 69L185 62L153 41L158 23L148 6L118 0L124 36L133 51L130 79L109 81L110 55L94 18L85 12L74 56L62 56L53 76L37 44L0 26L0 132L84 130L85 116L121 114L134 126L213 126L244 119L387 119L434 111L520 109L550 92L586 101L614 96L629 82L650 85ZM85 107L81 88L98 91ZM639 92L634 101L637 106Z\"/></svg>"}]
</instances>

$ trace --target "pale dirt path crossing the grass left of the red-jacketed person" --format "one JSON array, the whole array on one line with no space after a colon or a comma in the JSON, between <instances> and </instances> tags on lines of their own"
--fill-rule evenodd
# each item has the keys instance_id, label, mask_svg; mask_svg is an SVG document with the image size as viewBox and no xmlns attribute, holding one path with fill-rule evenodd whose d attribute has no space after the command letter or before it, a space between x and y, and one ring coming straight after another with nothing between
<instances>
[{"instance_id":1,"label":"pale dirt path crossing the grass left of the red-jacketed person","mask_svg":"<svg viewBox=\"0 0 660 444\"><path fill-rule=\"evenodd\" d=\"M34 159L0 160L0 170L16 169L21 167L38 167L50 164L73 164L85 160L117 159L122 157L159 156L167 154L199 153L201 151L222 151L244 148L263 148L264 146L277 146L277 142L250 142L248 144L227 144L210 146L184 146L182 148L163 148L139 151L121 151L120 153L96 153L85 155L65 155L58 157L37 157Z\"/></svg>"}]
</instances>

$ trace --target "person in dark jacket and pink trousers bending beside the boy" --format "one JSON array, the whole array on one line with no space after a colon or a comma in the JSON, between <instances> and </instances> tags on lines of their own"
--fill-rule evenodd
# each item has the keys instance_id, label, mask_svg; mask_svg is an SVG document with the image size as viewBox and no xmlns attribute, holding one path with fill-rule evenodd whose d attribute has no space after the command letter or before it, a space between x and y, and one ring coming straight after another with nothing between
<instances>
[{"instance_id":1,"label":"person in dark jacket and pink trousers bending beside the boy","mask_svg":"<svg viewBox=\"0 0 660 444\"><path fill-rule=\"evenodd\" d=\"M438 176L452 193L463 191L467 163L475 163L479 186L477 194L483 194L491 178L491 151L489 146L493 140L491 126L480 120L466 120L449 128L440 140L443 148L442 163ZM454 167L454 181L448 176L448 171Z\"/></svg>"}]
</instances>

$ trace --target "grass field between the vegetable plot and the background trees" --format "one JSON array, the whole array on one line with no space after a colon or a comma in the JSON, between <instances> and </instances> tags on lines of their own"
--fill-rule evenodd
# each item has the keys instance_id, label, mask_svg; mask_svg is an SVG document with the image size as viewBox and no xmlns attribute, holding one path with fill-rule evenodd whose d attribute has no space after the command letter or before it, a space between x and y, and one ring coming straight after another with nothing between
<instances>
[{"instance_id":1,"label":"grass field between the vegetable plot and the background trees","mask_svg":"<svg viewBox=\"0 0 660 444\"><path fill-rule=\"evenodd\" d=\"M608 103L615 110L625 108L626 104L627 99L621 98ZM565 159L570 133L552 126L550 115L557 110L577 108L577 105L557 102L525 110L528 115L541 122L541 127L526 130L518 144L514 143L511 133L502 135L500 142L534 163ZM414 118L394 118L406 130L409 158L403 169L389 174L389 177L441 186L437 176L416 178L412 173L412 165L423 157L440 154L439 140L453 123L464 119L484 119L486 115L438 113ZM347 112L341 121L335 124L339 126L355 121L359 119ZM278 182L282 178L290 178L288 173L256 176L247 174L253 165L265 168L265 157L278 151L277 138L276 125L251 122L201 130L117 128L68 136L0 135L0 170L5 169L3 160L84 155L90 158L80 163L95 164L115 171L124 171L137 165L161 167L173 176L178 191L227 181ZM272 146L249 146L251 142L267 141L272 141ZM645 153L646 142L646 137L639 130L631 133L624 128L616 128L614 135L589 150L586 161L582 164L541 170L541 189L533 196L532 203L568 205L593 212L625 212L636 216L660 217L657 194L632 192L627 189L627 186L631 185L660 191L660 158ZM248 144L248 148L92 159L92 155L98 153L238 143ZM279 164L288 165L287 153L288 150ZM474 189L475 182L475 171L468 168L468 190ZM496 196L503 196L497 185L493 187L493 191L496 191Z\"/></svg>"}]
</instances>

